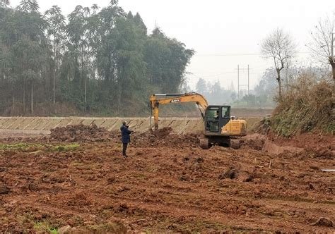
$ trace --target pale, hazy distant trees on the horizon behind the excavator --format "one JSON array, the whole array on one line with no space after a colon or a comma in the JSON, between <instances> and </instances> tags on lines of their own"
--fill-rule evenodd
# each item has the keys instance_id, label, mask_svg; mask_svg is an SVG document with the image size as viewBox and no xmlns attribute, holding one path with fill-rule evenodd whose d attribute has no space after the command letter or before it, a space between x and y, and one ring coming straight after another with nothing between
<instances>
[{"instance_id":1,"label":"pale, hazy distant trees on the horizon behind the excavator","mask_svg":"<svg viewBox=\"0 0 335 234\"><path fill-rule=\"evenodd\" d=\"M282 71L283 73L283 71ZM206 82L204 78L199 78L196 82L196 92L204 94L210 104L231 105L242 108L274 108L278 101L278 82L276 69L266 68L261 75L258 84L253 90L240 90L238 93L231 83L230 87L221 87L219 81ZM329 69L326 66L304 67L297 64L285 68L281 74L281 86L283 94L286 94L292 87L295 87L302 77L316 78L317 80L329 80Z\"/></svg>"}]
</instances>

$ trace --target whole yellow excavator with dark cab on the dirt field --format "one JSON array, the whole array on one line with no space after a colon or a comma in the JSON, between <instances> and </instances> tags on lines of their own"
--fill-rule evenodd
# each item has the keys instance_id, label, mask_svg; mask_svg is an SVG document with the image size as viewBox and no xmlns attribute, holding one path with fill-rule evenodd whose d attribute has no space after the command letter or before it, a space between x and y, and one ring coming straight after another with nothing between
<instances>
[{"instance_id":1,"label":"whole yellow excavator with dark cab on the dirt field","mask_svg":"<svg viewBox=\"0 0 335 234\"><path fill-rule=\"evenodd\" d=\"M240 148L238 137L247 135L247 122L230 116L230 106L210 106L204 96L196 92L187 94L153 94L150 98L154 129L158 130L159 106L183 102L195 103L204 121L204 135L199 137L199 145L208 149L213 144L225 147Z\"/></svg>"}]
</instances>

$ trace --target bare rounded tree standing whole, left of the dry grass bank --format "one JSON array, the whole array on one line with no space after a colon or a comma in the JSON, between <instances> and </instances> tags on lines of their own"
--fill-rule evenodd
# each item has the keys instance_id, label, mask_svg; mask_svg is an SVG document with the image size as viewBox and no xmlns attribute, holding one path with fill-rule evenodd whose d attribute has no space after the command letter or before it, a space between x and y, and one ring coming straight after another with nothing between
<instances>
[{"instance_id":1,"label":"bare rounded tree standing whole, left of the dry grass bank","mask_svg":"<svg viewBox=\"0 0 335 234\"><path fill-rule=\"evenodd\" d=\"M271 32L261 42L261 54L265 58L272 58L274 60L274 66L276 68L278 81L278 96L279 101L282 100L282 85L281 85L281 70L287 66L288 61L291 57L295 56L297 44L293 38L283 29L277 28L274 32Z\"/></svg>"}]
</instances>

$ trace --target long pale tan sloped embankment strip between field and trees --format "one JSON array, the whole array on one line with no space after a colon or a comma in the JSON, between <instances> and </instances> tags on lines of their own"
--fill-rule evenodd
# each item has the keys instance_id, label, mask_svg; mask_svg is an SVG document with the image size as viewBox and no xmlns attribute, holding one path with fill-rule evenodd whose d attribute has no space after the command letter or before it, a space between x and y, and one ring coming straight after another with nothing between
<instances>
[{"instance_id":1,"label":"long pale tan sloped embankment strip between field and trees","mask_svg":"<svg viewBox=\"0 0 335 234\"><path fill-rule=\"evenodd\" d=\"M248 127L259 121L260 117L245 119ZM118 131L122 121L128 121L129 127L139 133L150 128L150 118L85 118L85 117L0 117L1 132L42 133L67 125L90 125L95 123L98 127L110 131ZM171 127L174 133L197 133L202 130L201 118L160 118L160 128Z\"/></svg>"}]
</instances>

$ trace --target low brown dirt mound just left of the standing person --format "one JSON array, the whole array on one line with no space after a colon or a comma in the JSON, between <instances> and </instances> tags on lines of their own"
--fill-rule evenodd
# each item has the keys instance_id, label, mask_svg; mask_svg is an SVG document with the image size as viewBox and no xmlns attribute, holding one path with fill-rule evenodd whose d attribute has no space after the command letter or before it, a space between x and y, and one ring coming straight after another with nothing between
<instances>
[{"instance_id":1,"label":"low brown dirt mound just left of the standing person","mask_svg":"<svg viewBox=\"0 0 335 234\"><path fill-rule=\"evenodd\" d=\"M108 142L110 132L105 128L98 128L94 123L91 125L67 125L62 128L51 130L50 140L62 142Z\"/></svg>"}]
</instances>

